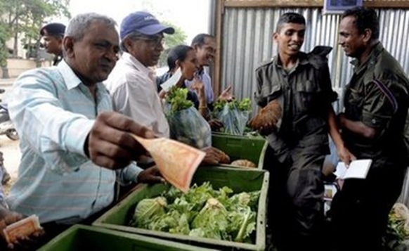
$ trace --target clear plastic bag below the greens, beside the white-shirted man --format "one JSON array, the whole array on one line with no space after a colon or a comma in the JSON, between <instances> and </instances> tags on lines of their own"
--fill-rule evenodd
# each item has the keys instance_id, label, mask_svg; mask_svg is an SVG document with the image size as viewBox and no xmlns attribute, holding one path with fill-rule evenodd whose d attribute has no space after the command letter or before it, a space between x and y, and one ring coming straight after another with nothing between
<instances>
[{"instance_id":1,"label":"clear plastic bag below the greens, beside the white-shirted man","mask_svg":"<svg viewBox=\"0 0 409 251\"><path fill-rule=\"evenodd\" d=\"M171 112L170 105L167 104L164 110L171 139L199 149L212 146L212 129L196 108L192 106Z\"/></svg>"}]
</instances>

